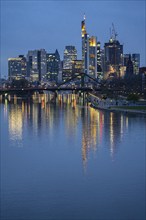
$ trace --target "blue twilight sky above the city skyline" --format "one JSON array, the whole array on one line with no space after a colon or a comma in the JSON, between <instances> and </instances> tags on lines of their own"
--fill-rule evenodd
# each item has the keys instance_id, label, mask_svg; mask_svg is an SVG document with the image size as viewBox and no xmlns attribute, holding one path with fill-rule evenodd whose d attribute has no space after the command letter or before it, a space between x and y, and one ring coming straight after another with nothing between
<instances>
[{"instance_id":1,"label":"blue twilight sky above the city skyline","mask_svg":"<svg viewBox=\"0 0 146 220\"><path fill-rule=\"evenodd\" d=\"M1 74L8 73L7 59L28 50L58 49L61 59L66 45L74 45L81 58L81 20L101 46L108 42L114 23L124 53L140 53L146 66L145 0L122 1L29 1L1 0Z\"/></svg>"}]
</instances>

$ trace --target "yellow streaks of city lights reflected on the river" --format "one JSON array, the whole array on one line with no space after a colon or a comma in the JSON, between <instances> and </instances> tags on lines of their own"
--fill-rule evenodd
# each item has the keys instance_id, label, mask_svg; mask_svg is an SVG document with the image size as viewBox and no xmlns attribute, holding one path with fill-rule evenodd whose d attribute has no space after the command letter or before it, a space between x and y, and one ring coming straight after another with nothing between
<instances>
[{"instance_id":1,"label":"yellow streaks of city lights reflected on the river","mask_svg":"<svg viewBox=\"0 0 146 220\"><path fill-rule=\"evenodd\" d=\"M35 94L30 100L9 97L4 103L4 116L8 116L13 145L23 146L24 130L40 138L44 133L51 136L59 130L64 138L81 138L84 166L90 152L99 150L103 142L113 159L129 129L130 117L82 104L83 97L79 94Z\"/></svg>"}]
</instances>

